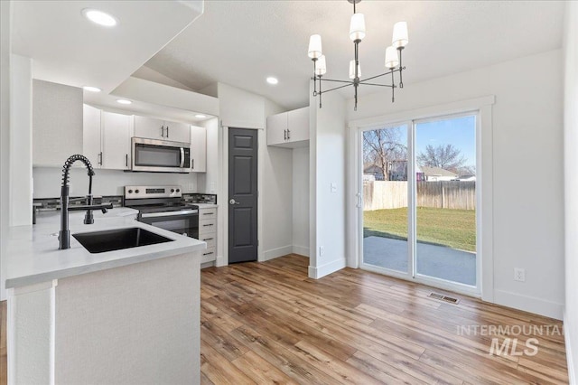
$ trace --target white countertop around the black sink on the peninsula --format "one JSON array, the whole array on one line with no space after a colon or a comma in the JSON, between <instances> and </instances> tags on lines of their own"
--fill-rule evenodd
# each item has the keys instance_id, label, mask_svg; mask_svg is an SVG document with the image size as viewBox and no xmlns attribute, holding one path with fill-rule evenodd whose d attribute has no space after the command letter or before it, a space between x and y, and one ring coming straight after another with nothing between
<instances>
[{"instance_id":1,"label":"white countertop around the black sink on the peninsula","mask_svg":"<svg viewBox=\"0 0 578 385\"><path fill-rule=\"evenodd\" d=\"M70 249L59 250L60 211L40 212L35 225L10 228L5 260L6 288L28 286L207 249L207 244L199 239L135 221L136 212L128 208L115 208L104 215L100 211L94 211L94 223L85 225L82 223L84 211L70 211L70 234L139 227L173 241L91 254L70 235Z\"/></svg>"}]
</instances>

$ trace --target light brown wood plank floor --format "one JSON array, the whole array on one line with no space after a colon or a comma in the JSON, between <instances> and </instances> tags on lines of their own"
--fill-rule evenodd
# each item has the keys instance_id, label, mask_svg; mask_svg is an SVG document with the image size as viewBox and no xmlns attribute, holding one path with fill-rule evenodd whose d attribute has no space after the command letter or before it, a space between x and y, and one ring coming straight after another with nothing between
<instances>
[{"instance_id":1,"label":"light brown wood plank floor","mask_svg":"<svg viewBox=\"0 0 578 385\"><path fill-rule=\"evenodd\" d=\"M359 269L313 280L307 265L290 255L202 270L201 383L568 383L562 336L536 335L535 356L496 356L491 335L457 332L558 321L464 296L443 303L427 297L438 289ZM3 302L0 384L5 314ZM517 352L531 337L518 336Z\"/></svg>"}]
</instances>

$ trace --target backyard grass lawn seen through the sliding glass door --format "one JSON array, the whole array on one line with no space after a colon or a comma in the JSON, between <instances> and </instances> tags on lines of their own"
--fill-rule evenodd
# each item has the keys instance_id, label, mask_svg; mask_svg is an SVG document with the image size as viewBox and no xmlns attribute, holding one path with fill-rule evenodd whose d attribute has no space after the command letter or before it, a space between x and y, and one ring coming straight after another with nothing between
<instances>
[{"instance_id":1,"label":"backyard grass lawn seen through the sliding glass door","mask_svg":"<svg viewBox=\"0 0 578 385\"><path fill-rule=\"evenodd\" d=\"M417 208L417 240L476 251L476 211ZM407 208L363 211L363 237L407 239Z\"/></svg>"}]
</instances>

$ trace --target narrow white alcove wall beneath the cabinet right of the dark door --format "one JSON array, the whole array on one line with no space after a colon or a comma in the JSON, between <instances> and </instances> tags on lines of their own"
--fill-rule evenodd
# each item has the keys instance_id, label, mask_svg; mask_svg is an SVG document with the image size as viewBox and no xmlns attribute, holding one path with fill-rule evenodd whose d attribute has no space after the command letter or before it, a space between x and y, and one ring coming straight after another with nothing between
<instances>
[{"instance_id":1,"label":"narrow white alcove wall beneath the cabinet right of the dark door","mask_svg":"<svg viewBox=\"0 0 578 385\"><path fill-rule=\"evenodd\" d=\"M293 150L293 252L309 257L309 147Z\"/></svg>"}]
</instances>

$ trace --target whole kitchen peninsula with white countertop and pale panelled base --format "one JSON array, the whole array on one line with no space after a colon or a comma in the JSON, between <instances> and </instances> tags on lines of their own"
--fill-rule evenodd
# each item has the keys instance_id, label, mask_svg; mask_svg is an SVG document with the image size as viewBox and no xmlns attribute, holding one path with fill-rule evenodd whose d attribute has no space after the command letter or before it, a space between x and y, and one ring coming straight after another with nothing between
<instances>
[{"instance_id":1,"label":"whole kitchen peninsula with white countertop and pale panelled base","mask_svg":"<svg viewBox=\"0 0 578 385\"><path fill-rule=\"evenodd\" d=\"M10 383L199 383L200 258L206 243L115 208L70 213L59 250L57 212L10 230ZM90 253L79 233L134 228L163 243Z\"/></svg>"}]
</instances>

